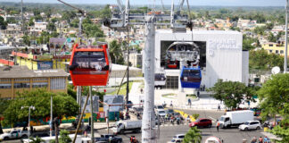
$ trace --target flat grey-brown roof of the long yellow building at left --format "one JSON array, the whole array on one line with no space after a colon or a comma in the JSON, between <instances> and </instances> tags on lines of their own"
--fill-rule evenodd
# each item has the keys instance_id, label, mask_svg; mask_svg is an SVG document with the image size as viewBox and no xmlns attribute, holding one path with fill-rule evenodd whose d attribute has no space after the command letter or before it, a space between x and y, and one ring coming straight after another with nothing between
<instances>
[{"instance_id":1,"label":"flat grey-brown roof of the long yellow building at left","mask_svg":"<svg viewBox=\"0 0 289 143\"><path fill-rule=\"evenodd\" d=\"M7 78L45 78L45 77L68 77L64 70L29 70L27 66L3 66L0 67L0 79Z\"/></svg>"}]
</instances>

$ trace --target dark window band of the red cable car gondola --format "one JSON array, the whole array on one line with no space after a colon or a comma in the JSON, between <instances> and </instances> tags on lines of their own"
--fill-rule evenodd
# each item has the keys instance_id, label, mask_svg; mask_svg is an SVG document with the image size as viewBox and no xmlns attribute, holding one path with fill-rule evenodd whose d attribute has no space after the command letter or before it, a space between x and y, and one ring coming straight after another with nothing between
<instances>
[{"instance_id":1,"label":"dark window band of the red cable car gondola","mask_svg":"<svg viewBox=\"0 0 289 143\"><path fill-rule=\"evenodd\" d=\"M76 52L72 64L77 65L78 69L95 71L103 71L107 65L103 52Z\"/></svg>"}]
</instances>

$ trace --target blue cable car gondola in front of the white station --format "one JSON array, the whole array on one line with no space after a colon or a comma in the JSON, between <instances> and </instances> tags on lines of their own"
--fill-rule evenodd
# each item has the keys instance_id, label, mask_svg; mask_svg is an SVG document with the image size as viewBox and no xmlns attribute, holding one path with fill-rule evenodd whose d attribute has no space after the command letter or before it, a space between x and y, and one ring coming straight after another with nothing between
<instances>
[{"instance_id":1,"label":"blue cable car gondola in front of the white station","mask_svg":"<svg viewBox=\"0 0 289 143\"><path fill-rule=\"evenodd\" d=\"M200 67L186 68L186 66L184 66L181 72L180 81L182 88L200 88L202 81Z\"/></svg>"}]
</instances>

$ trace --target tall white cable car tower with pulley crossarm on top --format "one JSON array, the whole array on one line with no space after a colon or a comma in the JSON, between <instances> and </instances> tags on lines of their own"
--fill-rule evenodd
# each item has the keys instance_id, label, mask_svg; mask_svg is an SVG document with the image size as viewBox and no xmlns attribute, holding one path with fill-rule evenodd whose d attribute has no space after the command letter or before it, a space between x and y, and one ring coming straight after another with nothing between
<instances>
[{"instance_id":1,"label":"tall white cable car tower with pulley crossarm on top","mask_svg":"<svg viewBox=\"0 0 289 143\"><path fill-rule=\"evenodd\" d=\"M104 20L103 25L111 29L123 30L129 25L145 25L145 52L144 52L144 69L145 69L145 102L144 115L142 122L142 142L156 143L157 129L155 128L155 117L153 111L154 105L154 45L155 45L155 26L167 25L174 31L186 29L187 15L174 13L172 4L171 14L155 14L153 13L129 13L129 0L126 0L126 6L122 6L122 2L118 1L120 9L119 13L114 13L111 20ZM185 0L182 0L185 1ZM187 0L188 1L188 0ZM178 6L182 8L183 2ZM165 21L165 22L164 22ZM168 22L170 21L170 22ZM128 51L129 54L129 51ZM127 85L128 88L128 85ZM128 92L127 92L128 94ZM127 95L128 101L128 95Z\"/></svg>"}]
</instances>

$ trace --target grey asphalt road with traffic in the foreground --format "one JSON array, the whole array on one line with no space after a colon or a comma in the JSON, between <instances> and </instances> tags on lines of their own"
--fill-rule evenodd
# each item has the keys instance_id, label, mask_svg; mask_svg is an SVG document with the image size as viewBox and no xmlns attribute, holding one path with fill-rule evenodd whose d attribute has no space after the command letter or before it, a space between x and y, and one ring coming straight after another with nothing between
<instances>
[{"instance_id":1,"label":"grey asphalt road with traffic in the foreground","mask_svg":"<svg viewBox=\"0 0 289 143\"><path fill-rule=\"evenodd\" d=\"M248 142L253 138L260 136L264 137L260 132L262 130L250 130L250 131L240 131L237 128L232 129L219 129L219 132L216 129L215 121L219 118L220 115L225 114L223 111L205 111L205 110L183 110L186 114L200 114L199 118L209 118L213 121L213 126L211 128L201 128L202 131L202 142L205 139L215 136L220 139L223 139L224 143L237 143L242 142L243 139L247 139ZM169 122L165 126L161 126L160 139L158 142L167 143L170 141L174 135L184 133L189 130L187 124L184 125L171 125ZM100 134L107 133L107 130L98 130ZM125 135L120 135L123 139L123 142L128 143L130 136L136 136L136 139L141 140L141 133L127 133Z\"/></svg>"}]
</instances>

